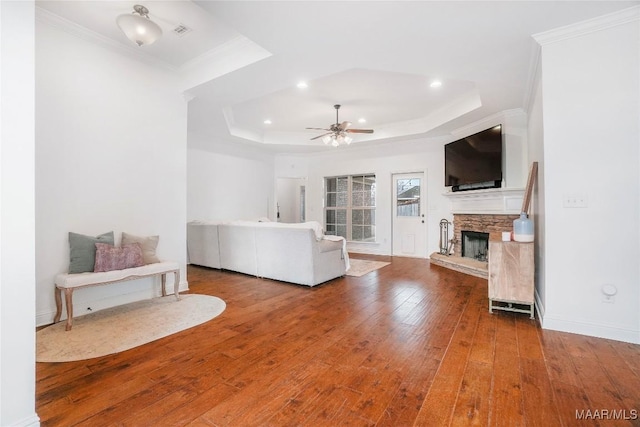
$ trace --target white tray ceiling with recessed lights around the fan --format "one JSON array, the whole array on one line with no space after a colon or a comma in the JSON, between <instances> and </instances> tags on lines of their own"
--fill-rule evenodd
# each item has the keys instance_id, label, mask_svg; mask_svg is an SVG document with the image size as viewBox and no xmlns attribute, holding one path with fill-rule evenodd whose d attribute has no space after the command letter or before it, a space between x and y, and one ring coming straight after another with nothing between
<instances>
[{"instance_id":1,"label":"white tray ceiling with recessed lights around the fan","mask_svg":"<svg viewBox=\"0 0 640 427\"><path fill-rule=\"evenodd\" d=\"M138 48L115 18L145 5L163 37ZM191 145L328 150L310 139L340 121L353 146L451 135L501 111L526 109L533 34L638 1L39 1L180 74ZM191 29L173 33L177 25ZM207 72L203 73L202 70ZM439 87L431 87L434 81ZM296 85L306 82L307 87ZM365 123L359 123L365 119ZM270 124L265 124L269 120Z\"/></svg>"}]
</instances>

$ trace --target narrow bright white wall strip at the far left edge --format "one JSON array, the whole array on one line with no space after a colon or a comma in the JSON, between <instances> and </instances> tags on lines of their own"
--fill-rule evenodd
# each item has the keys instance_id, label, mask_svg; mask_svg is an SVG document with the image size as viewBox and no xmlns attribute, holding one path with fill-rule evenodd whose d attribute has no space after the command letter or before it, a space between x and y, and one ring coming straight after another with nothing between
<instances>
[{"instance_id":1,"label":"narrow bright white wall strip at the far left edge","mask_svg":"<svg viewBox=\"0 0 640 427\"><path fill-rule=\"evenodd\" d=\"M35 413L34 6L0 2L0 425Z\"/></svg>"}]
</instances>

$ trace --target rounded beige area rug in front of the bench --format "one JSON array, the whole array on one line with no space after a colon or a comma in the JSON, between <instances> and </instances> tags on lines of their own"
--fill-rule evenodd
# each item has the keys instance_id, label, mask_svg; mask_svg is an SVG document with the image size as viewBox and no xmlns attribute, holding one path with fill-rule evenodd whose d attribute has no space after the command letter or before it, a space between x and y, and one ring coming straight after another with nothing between
<instances>
[{"instance_id":1,"label":"rounded beige area rug in front of the bench","mask_svg":"<svg viewBox=\"0 0 640 427\"><path fill-rule=\"evenodd\" d=\"M209 295L173 295L100 310L36 332L37 362L70 362L118 353L213 319L226 304Z\"/></svg>"}]
</instances>

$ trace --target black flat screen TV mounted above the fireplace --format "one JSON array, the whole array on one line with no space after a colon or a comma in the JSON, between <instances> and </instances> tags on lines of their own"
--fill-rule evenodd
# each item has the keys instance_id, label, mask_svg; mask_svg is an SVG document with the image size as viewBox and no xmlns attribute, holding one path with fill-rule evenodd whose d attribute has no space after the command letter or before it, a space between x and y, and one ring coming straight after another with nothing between
<instances>
[{"instance_id":1,"label":"black flat screen TV mounted above the fireplace","mask_svg":"<svg viewBox=\"0 0 640 427\"><path fill-rule=\"evenodd\" d=\"M444 182L452 191L502 186L502 125L444 146Z\"/></svg>"}]
</instances>

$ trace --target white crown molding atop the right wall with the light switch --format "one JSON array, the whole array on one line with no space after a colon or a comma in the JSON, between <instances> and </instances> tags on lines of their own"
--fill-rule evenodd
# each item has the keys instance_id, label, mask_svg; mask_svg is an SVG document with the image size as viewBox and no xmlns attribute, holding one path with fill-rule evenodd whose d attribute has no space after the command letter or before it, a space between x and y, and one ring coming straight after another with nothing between
<instances>
[{"instance_id":1,"label":"white crown molding atop the right wall with the light switch","mask_svg":"<svg viewBox=\"0 0 640 427\"><path fill-rule=\"evenodd\" d=\"M544 31L533 35L535 41L541 46L557 43L563 40L569 40L576 37L582 37L587 34L603 31L618 25L628 24L640 19L640 6L633 6L622 9L617 12L598 16L596 18L587 19L575 24L566 25L564 27L555 28L553 30Z\"/></svg>"}]
</instances>

